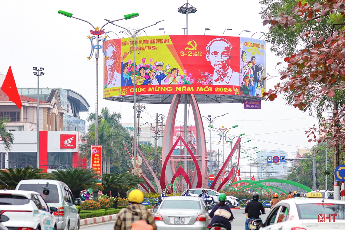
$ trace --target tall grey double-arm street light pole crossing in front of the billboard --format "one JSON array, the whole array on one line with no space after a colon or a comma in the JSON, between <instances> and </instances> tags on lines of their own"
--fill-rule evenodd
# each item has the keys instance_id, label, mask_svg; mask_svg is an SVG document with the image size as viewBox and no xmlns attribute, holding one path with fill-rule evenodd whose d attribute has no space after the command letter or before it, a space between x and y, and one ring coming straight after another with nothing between
<instances>
[{"instance_id":1,"label":"tall grey double-arm street light pole crossing in front of the billboard","mask_svg":"<svg viewBox=\"0 0 345 230\"><path fill-rule=\"evenodd\" d=\"M132 39L132 44L133 44L133 63L134 63L134 70L133 70L133 109L134 109L134 116L133 116L133 118L134 118L134 125L133 125L133 129L134 129L134 144L136 144L136 135L137 135L137 124L136 124L136 115L137 115L137 111L136 111L136 91L135 91L135 85L136 85L136 83L135 83L135 72L136 72L136 64L135 64L135 51L137 50L138 51L138 53L140 53L139 52L139 50L138 49L136 49L136 45L137 45L137 43L138 43L138 41L137 41L137 39L139 38L139 36L140 36L140 34L139 34L139 32L141 31L141 30L144 30L144 29L146 29L146 28L148 28L148 27L151 27L151 26L155 26L157 23L159 23L159 22L161 22L161 21L163 21L163 20L161 20L161 21L158 21L158 22L156 22L155 24L152 24L152 25L150 25L150 26L147 26L147 27L144 27L144 28L141 28L141 29L137 29L136 31L134 31L134 32L131 32L131 31L129 31L128 29L126 29L125 27L122 27L122 26L119 26L119 25L117 25L117 24L114 24L114 23L112 23L113 21L110 21L110 20L108 20L108 19L104 19L104 20L106 20L106 21L108 21L108 23L111 23L111 24L113 24L114 26L117 26L117 27L120 27L120 28L122 28L122 29L124 29L125 31L121 31L122 33L124 33L124 34L126 34L127 36L128 36L128 38L129 38L129 41L130 41L130 39ZM127 34L128 33L128 34ZM131 53L132 51L130 51L129 53ZM136 146L134 146L134 149L135 149L135 151L134 151L134 175L137 175L137 148L136 148Z\"/></svg>"}]
</instances>

